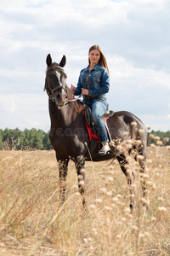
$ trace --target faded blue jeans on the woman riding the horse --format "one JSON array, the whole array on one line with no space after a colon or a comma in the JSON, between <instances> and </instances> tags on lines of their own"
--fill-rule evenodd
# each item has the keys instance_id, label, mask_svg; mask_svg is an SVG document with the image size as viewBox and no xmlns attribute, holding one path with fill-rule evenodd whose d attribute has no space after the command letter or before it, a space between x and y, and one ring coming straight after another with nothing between
<instances>
[{"instance_id":1,"label":"faded blue jeans on the woman riding the horse","mask_svg":"<svg viewBox=\"0 0 170 256\"><path fill-rule=\"evenodd\" d=\"M92 109L92 118L94 125L99 136L101 143L108 143L107 132L105 130L104 122L101 120L101 116L107 109L107 102L105 97L84 99L83 103L87 104Z\"/></svg>"}]
</instances>

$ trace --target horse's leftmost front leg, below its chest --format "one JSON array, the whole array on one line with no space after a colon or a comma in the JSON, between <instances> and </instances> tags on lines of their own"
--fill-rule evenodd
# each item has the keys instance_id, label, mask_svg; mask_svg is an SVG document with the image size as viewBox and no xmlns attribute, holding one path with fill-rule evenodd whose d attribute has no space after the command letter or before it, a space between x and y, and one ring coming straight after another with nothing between
<instances>
[{"instance_id":1,"label":"horse's leftmost front leg, below its chest","mask_svg":"<svg viewBox=\"0 0 170 256\"><path fill-rule=\"evenodd\" d=\"M58 160L59 163L59 194L60 194L60 204L65 201L65 182L68 172L68 159Z\"/></svg>"}]
</instances>

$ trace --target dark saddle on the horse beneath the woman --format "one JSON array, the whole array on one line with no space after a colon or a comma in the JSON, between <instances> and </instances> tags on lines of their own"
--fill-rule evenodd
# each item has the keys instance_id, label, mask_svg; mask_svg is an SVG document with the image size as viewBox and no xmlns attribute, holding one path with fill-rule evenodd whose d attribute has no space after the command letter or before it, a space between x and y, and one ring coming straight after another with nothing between
<instances>
[{"instance_id":1,"label":"dark saddle on the horse beneath the woman","mask_svg":"<svg viewBox=\"0 0 170 256\"><path fill-rule=\"evenodd\" d=\"M109 110L109 105L107 106L107 109L105 110L105 113L102 115L101 119L104 122L105 129L108 134L109 141L111 141L111 134L107 126L107 119L111 117L114 114L114 111ZM92 119L91 115L91 108L88 107L88 105L84 104L84 119L89 126L89 128L93 131L94 135L98 137L98 132L96 131L94 121Z\"/></svg>"}]
</instances>

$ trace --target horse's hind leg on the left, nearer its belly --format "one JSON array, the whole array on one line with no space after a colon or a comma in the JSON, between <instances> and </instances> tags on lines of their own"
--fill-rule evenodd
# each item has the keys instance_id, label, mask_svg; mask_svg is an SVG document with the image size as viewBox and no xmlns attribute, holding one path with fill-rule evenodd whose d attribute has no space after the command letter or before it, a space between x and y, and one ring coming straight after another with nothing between
<instances>
[{"instance_id":1,"label":"horse's hind leg on the left, nearer its belly","mask_svg":"<svg viewBox=\"0 0 170 256\"><path fill-rule=\"evenodd\" d=\"M122 172L127 177L127 184L128 184L129 192L130 192L130 209L131 209L131 212L133 212L134 192L133 192L132 184L134 181L134 174L133 174L133 172L132 173L130 173L129 171L127 172L127 168L125 166L125 165L127 165L127 160L126 160L126 157L124 154L117 155L116 159L118 160L119 165L121 166Z\"/></svg>"}]
</instances>

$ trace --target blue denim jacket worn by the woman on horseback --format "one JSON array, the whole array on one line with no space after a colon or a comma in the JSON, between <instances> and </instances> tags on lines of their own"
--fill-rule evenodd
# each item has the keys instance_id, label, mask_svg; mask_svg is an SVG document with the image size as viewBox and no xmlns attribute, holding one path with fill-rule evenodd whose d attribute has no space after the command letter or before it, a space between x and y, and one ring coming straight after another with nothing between
<instances>
[{"instance_id":1,"label":"blue denim jacket worn by the woman on horseback","mask_svg":"<svg viewBox=\"0 0 170 256\"><path fill-rule=\"evenodd\" d=\"M89 67L89 65L88 65ZM80 72L80 76L78 79L77 88L75 91L75 95L81 95L82 90L86 89L86 79L88 76L88 67L83 68ZM99 65L95 65L95 67L90 71L88 76L88 96L98 97L105 96L105 94L109 91L110 88L110 79L107 69Z\"/></svg>"}]
</instances>

